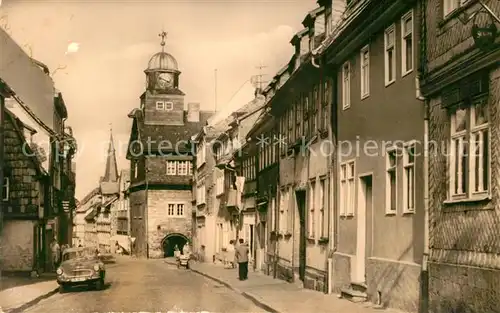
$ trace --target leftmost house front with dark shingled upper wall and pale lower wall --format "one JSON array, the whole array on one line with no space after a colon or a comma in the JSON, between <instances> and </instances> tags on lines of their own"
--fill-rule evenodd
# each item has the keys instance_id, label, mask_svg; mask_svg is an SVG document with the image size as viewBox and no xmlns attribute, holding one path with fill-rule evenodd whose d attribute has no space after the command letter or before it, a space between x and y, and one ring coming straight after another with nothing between
<instances>
[{"instance_id":1,"label":"leftmost house front with dark shingled upper wall and pale lower wall","mask_svg":"<svg viewBox=\"0 0 500 313\"><path fill-rule=\"evenodd\" d=\"M50 187L49 175L38 158L31 154L24 124L7 110L3 122L2 271L30 272L43 269L44 265L50 269L48 247L53 237L50 231L45 231L41 221L43 217L56 214L50 211L50 206L44 210L46 191ZM23 153L23 147L30 153Z\"/></svg>"}]
</instances>

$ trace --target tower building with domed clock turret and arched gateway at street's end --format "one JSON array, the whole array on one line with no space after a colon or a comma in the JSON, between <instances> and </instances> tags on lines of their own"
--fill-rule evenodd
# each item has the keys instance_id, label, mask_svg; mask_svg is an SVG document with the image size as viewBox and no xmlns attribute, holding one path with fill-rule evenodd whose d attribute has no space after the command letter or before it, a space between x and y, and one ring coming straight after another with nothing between
<instances>
[{"instance_id":1,"label":"tower building with domed clock turret and arched gateway at street's end","mask_svg":"<svg viewBox=\"0 0 500 313\"><path fill-rule=\"evenodd\" d=\"M178 64L164 51L153 55L145 70L146 91L134 109L127 159L130 160L131 235L138 256L173 255L192 237L191 136L206 125L211 112L199 103L184 110Z\"/></svg>"}]
</instances>

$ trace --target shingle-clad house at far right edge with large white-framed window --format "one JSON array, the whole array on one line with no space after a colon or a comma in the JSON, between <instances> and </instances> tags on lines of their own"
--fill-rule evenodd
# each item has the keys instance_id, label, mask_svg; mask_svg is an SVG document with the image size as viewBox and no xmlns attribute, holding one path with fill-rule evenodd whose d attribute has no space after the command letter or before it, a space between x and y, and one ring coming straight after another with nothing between
<instances>
[{"instance_id":1,"label":"shingle-clad house at far right edge with large white-framed window","mask_svg":"<svg viewBox=\"0 0 500 313\"><path fill-rule=\"evenodd\" d=\"M500 301L498 1L428 0L421 92L428 127L432 312L495 312Z\"/></svg>"}]
</instances>

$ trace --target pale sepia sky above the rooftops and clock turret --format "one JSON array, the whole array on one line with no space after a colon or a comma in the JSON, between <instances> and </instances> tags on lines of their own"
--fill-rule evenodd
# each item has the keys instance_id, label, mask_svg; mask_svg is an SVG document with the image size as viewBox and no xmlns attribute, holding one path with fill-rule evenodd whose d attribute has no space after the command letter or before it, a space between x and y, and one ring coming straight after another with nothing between
<instances>
[{"instance_id":1,"label":"pale sepia sky above the rooftops and clock turret","mask_svg":"<svg viewBox=\"0 0 500 313\"><path fill-rule=\"evenodd\" d=\"M143 71L161 50L162 29L182 72L185 103L214 110L217 99L217 110L229 112L252 97L252 75L268 81L289 61L289 41L315 7L314 0L2 0L0 27L48 65L63 94L78 141L82 199L104 174L110 128L119 169L129 168L127 114L139 107Z\"/></svg>"}]
</instances>

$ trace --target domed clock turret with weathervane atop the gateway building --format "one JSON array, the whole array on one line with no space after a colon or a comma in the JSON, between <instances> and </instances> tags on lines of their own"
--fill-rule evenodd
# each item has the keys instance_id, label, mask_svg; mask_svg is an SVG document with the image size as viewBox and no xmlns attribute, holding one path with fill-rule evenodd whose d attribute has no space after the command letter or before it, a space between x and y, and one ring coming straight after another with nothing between
<instances>
[{"instance_id":1,"label":"domed clock turret with weathervane atop the gateway building","mask_svg":"<svg viewBox=\"0 0 500 313\"><path fill-rule=\"evenodd\" d=\"M161 52L149 60L146 92L142 100L144 123L149 125L184 125L184 93L179 89L177 60L165 52L166 32L159 34Z\"/></svg>"}]
</instances>

